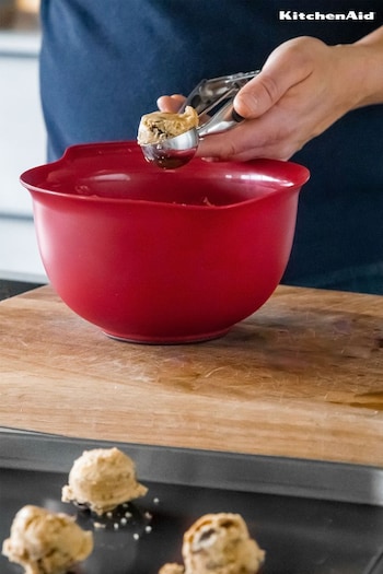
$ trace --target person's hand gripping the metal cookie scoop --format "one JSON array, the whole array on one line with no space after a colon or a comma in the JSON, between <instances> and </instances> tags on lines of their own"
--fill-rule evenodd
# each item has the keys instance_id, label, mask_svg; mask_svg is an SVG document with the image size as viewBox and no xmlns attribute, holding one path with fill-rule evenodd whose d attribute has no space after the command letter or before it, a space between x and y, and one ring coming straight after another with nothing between
<instances>
[{"instance_id":1,"label":"person's hand gripping the metal cookie scoop","mask_svg":"<svg viewBox=\"0 0 383 574\"><path fill-rule=\"evenodd\" d=\"M286 42L262 72L237 93L235 110L245 118L229 132L204 138L197 154L217 160L288 160L307 141L362 101L363 49L327 46L313 37ZM184 98L162 96L161 109L174 112Z\"/></svg>"}]
</instances>

